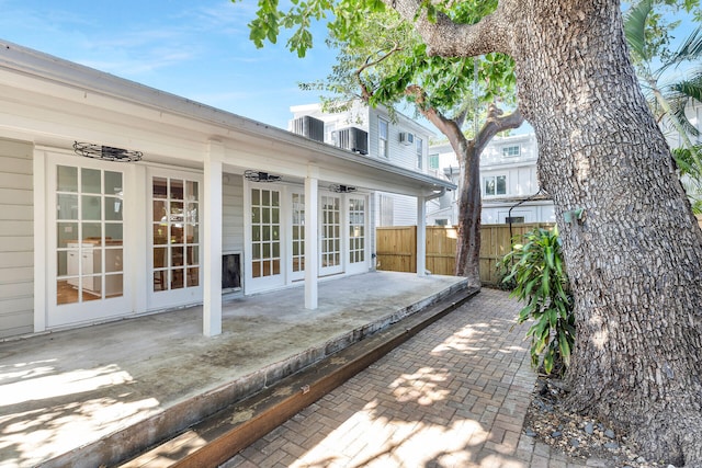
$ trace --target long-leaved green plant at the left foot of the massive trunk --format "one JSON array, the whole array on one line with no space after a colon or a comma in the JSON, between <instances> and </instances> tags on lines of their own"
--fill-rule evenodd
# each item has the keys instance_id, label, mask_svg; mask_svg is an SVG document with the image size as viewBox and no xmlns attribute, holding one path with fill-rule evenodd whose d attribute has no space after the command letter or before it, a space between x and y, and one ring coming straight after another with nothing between
<instances>
[{"instance_id":1,"label":"long-leaved green plant at the left foot of the massive trunk","mask_svg":"<svg viewBox=\"0 0 702 468\"><path fill-rule=\"evenodd\" d=\"M500 263L508 271L502 282L514 284L510 297L525 303L518 323L534 320L526 331L532 366L542 363L546 374L562 376L570 364L576 330L557 230L536 228L525 233L523 243L512 246Z\"/></svg>"}]
</instances>

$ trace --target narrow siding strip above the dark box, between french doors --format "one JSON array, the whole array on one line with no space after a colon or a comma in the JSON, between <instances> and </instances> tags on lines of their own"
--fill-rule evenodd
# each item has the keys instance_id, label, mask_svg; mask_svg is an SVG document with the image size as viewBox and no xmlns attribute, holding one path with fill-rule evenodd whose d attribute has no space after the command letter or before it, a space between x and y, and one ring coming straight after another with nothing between
<instances>
[{"instance_id":1,"label":"narrow siding strip above the dark box, between french doors","mask_svg":"<svg viewBox=\"0 0 702 468\"><path fill-rule=\"evenodd\" d=\"M244 178L224 174L222 197L222 251L244 252Z\"/></svg>"}]
</instances>

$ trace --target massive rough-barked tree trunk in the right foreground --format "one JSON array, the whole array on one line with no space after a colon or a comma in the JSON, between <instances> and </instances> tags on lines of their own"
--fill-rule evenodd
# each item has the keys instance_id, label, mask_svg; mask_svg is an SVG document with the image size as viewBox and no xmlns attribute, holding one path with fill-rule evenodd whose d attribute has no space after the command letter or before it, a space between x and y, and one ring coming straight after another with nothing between
<instances>
[{"instance_id":1,"label":"massive rough-barked tree trunk in the right foreground","mask_svg":"<svg viewBox=\"0 0 702 468\"><path fill-rule=\"evenodd\" d=\"M442 43L445 21L417 27L435 53L460 55ZM702 231L639 91L620 4L502 0L489 22L485 38L466 25L445 37L516 60L575 297L569 404L627 431L650 460L702 466Z\"/></svg>"}]
</instances>

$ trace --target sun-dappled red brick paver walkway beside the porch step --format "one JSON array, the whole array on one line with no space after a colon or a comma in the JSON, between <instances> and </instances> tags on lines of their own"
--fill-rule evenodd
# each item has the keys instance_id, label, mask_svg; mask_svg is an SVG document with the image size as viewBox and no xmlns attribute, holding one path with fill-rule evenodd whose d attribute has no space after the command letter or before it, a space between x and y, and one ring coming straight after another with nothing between
<instances>
[{"instance_id":1,"label":"sun-dappled red brick paver walkway beside the porch step","mask_svg":"<svg viewBox=\"0 0 702 468\"><path fill-rule=\"evenodd\" d=\"M584 466L522 433L535 375L518 310L484 288L225 467Z\"/></svg>"}]
</instances>

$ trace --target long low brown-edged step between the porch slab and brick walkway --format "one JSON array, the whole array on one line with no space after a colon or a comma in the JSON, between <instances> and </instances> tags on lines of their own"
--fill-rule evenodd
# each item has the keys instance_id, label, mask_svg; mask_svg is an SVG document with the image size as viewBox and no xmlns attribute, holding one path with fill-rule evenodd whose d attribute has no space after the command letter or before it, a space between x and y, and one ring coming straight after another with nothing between
<instances>
[{"instance_id":1,"label":"long low brown-edged step between the porch slab and brick walkway","mask_svg":"<svg viewBox=\"0 0 702 468\"><path fill-rule=\"evenodd\" d=\"M462 289L192 425L124 468L216 467L450 313L478 289Z\"/></svg>"}]
</instances>

